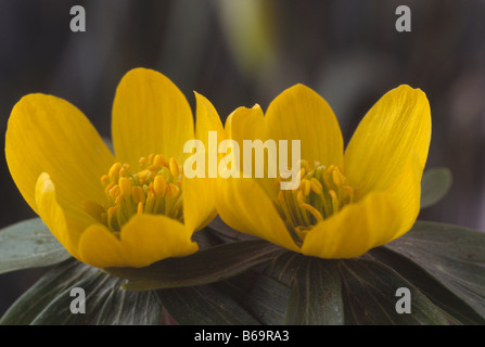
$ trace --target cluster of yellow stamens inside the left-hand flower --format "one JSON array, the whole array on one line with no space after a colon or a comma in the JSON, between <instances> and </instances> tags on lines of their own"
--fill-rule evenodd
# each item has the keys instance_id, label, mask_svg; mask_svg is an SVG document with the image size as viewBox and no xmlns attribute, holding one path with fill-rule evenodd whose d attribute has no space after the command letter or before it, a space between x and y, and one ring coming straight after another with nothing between
<instances>
[{"instance_id":1,"label":"cluster of yellow stamens inside the left-hand flower","mask_svg":"<svg viewBox=\"0 0 485 347\"><path fill-rule=\"evenodd\" d=\"M176 158L162 154L141 157L131 174L128 164L115 163L101 177L106 206L85 203L85 210L117 233L136 214L165 215L183 221L182 170Z\"/></svg>"}]
</instances>

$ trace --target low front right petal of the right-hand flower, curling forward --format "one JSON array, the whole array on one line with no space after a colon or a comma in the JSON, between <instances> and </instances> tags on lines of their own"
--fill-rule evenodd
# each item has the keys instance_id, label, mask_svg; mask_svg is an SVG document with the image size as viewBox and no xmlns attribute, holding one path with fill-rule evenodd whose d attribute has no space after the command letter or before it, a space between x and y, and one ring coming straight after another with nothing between
<instances>
[{"instance_id":1,"label":"low front right petal of the right-hand flower, curling forward","mask_svg":"<svg viewBox=\"0 0 485 347\"><path fill-rule=\"evenodd\" d=\"M392 195L372 192L310 229L302 253L320 258L359 257L394 235L400 227L399 214Z\"/></svg>"}]
</instances>

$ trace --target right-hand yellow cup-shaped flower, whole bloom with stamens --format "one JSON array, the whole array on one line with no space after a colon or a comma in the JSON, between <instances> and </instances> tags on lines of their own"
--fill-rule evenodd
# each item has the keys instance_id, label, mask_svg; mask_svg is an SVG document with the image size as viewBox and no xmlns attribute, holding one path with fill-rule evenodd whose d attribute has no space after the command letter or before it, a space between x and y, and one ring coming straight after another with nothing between
<instances>
[{"instance_id":1,"label":"right-hand yellow cup-shaped flower, whole bloom with stamens","mask_svg":"<svg viewBox=\"0 0 485 347\"><path fill-rule=\"evenodd\" d=\"M239 143L301 140L297 189L280 190L281 177L218 180L218 213L239 231L304 255L352 258L399 237L418 217L431 140L421 90L400 86L387 92L345 153L332 110L302 85L277 97L266 115L258 105L235 110L225 130Z\"/></svg>"}]
</instances>

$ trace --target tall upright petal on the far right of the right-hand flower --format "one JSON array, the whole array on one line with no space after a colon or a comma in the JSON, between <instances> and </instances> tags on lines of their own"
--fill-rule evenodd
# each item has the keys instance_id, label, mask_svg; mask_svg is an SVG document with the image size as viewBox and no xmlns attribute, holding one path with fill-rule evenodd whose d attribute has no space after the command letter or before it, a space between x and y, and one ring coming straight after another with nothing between
<instances>
[{"instance_id":1,"label":"tall upright petal on the far right of the right-hand flower","mask_svg":"<svg viewBox=\"0 0 485 347\"><path fill-rule=\"evenodd\" d=\"M345 175L357 197L385 190L401 175L410 153L421 170L431 140L431 112L425 94L400 86L387 92L360 121L346 151Z\"/></svg>"}]
</instances>

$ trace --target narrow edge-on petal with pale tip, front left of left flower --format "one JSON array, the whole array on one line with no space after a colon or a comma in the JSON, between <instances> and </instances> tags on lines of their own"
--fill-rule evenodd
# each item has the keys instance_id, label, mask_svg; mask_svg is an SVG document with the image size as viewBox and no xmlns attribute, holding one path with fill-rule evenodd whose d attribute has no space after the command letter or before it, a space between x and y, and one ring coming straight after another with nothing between
<instances>
[{"instance_id":1,"label":"narrow edge-on petal with pale tip, front left of left flower","mask_svg":"<svg viewBox=\"0 0 485 347\"><path fill-rule=\"evenodd\" d=\"M58 203L54 183L46 172L37 180L35 198L39 217L64 248L78 258L77 245L86 226L66 219L64 209Z\"/></svg>"}]
</instances>

